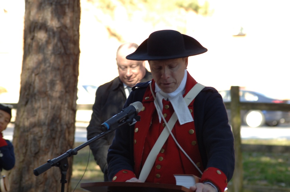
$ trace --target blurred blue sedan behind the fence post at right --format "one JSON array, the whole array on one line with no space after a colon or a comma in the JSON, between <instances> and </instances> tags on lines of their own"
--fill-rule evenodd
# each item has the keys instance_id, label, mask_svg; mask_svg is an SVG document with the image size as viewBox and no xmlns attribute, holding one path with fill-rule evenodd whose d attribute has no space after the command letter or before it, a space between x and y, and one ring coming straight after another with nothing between
<instances>
[{"instance_id":1,"label":"blurred blue sedan behind the fence post at right","mask_svg":"<svg viewBox=\"0 0 290 192\"><path fill-rule=\"evenodd\" d=\"M231 101L231 91L219 91L224 102ZM269 98L262 93L240 90L240 102L255 103L286 103L283 100ZM229 120L231 119L231 110L227 109ZM259 127L262 125L276 126L279 123L290 121L290 112L269 111L269 110L241 110L242 123L250 127Z\"/></svg>"}]
</instances>

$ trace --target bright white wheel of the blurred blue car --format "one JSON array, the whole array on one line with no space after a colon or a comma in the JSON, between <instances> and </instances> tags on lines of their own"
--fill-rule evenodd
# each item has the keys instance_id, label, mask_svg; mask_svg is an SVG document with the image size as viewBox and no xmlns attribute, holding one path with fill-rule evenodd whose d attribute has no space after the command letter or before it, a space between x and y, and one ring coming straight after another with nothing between
<instances>
[{"instance_id":1,"label":"bright white wheel of the blurred blue car","mask_svg":"<svg viewBox=\"0 0 290 192\"><path fill-rule=\"evenodd\" d=\"M259 127L265 124L265 116L260 110L250 110L244 116L244 121L250 127Z\"/></svg>"}]
</instances>

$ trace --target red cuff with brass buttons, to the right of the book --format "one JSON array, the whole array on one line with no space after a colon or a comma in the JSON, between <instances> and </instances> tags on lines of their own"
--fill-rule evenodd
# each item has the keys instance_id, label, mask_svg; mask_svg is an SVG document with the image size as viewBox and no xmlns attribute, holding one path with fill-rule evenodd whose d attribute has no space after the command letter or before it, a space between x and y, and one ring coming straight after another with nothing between
<instances>
[{"instance_id":1,"label":"red cuff with brass buttons, to the right of the book","mask_svg":"<svg viewBox=\"0 0 290 192\"><path fill-rule=\"evenodd\" d=\"M211 181L221 192L224 191L228 184L226 175L220 169L215 167L209 167L204 170L200 182L203 183L205 181Z\"/></svg>"}]
</instances>

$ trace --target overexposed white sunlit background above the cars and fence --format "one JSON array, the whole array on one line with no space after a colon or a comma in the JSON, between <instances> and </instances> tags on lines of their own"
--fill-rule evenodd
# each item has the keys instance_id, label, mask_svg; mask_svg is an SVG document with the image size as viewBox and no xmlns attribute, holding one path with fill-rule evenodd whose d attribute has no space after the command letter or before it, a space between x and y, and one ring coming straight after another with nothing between
<instances>
[{"instance_id":1,"label":"overexposed white sunlit background above the cars and fence","mask_svg":"<svg viewBox=\"0 0 290 192\"><path fill-rule=\"evenodd\" d=\"M104 7L104 2L110 3ZM207 16L168 8L162 0L151 7L140 2L81 0L79 86L99 86L118 76L115 56L121 43L140 45L156 30L174 29L208 49L189 58L188 71L197 82L290 99L290 1L208 0ZM24 12L24 0L0 1L0 87L7 90L0 102L18 101ZM236 36L239 32L242 36Z\"/></svg>"}]
</instances>

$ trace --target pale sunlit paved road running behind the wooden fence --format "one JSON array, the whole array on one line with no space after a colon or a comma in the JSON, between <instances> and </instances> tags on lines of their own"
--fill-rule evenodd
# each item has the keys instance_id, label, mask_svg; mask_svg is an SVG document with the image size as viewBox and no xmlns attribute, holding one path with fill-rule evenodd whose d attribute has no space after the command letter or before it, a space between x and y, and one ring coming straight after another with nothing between
<instances>
[{"instance_id":1,"label":"pale sunlit paved road running behind the wooden fence","mask_svg":"<svg viewBox=\"0 0 290 192\"><path fill-rule=\"evenodd\" d=\"M88 122L76 123L75 142L86 142L86 127ZM10 123L3 135L5 139L12 140L14 124ZM290 123L282 124L277 127L259 127L251 128L248 126L241 127L242 139L285 139L290 140Z\"/></svg>"}]
</instances>

